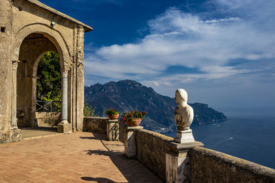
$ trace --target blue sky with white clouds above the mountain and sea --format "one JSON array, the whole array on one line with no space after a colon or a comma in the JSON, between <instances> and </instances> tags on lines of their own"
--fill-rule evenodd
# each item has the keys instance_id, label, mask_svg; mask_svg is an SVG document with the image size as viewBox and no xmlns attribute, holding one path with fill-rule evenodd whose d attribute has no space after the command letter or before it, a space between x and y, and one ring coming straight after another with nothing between
<instances>
[{"instance_id":1,"label":"blue sky with white clouds above the mountain and sea","mask_svg":"<svg viewBox=\"0 0 275 183\"><path fill-rule=\"evenodd\" d=\"M86 86L136 80L225 114L275 115L274 0L41 2L94 28Z\"/></svg>"}]
</instances>

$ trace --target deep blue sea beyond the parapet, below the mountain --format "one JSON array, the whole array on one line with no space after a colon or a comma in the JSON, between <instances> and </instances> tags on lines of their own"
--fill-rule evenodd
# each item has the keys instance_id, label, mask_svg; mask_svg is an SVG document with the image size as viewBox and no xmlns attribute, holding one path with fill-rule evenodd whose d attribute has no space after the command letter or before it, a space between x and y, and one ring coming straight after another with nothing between
<instances>
[{"instance_id":1,"label":"deep blue sea beyond the parapet, below the mountain","mask_svg":"<svg viewBox=\"0 0 275 183\"><path fill-rule=\"evenodd\" d=\"M275 117L240 118L191 127L204 147L275 169ZM175 137L177 132L163 133Z\"/></svg>"}]
</instances>

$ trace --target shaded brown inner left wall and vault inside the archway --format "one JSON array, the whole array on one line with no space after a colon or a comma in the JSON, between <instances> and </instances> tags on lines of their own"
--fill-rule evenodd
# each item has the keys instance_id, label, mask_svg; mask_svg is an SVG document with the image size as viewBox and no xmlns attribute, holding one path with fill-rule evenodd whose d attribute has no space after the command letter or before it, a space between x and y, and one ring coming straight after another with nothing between
<instances>
[{"instance_id":1,"label":"shaded brown inner left wall and vault inside the archway","mask_svg":"<svg viewBox=\"0 0 275 183\"><path fill-rule=\"evenodd\" d=\"M19 127L37 127L36 120L36 84L37 67L45 53L58 49L54 43L39 33L25 37L19 50L17 68L17 125ZM62 63L60 63L62 65Z\"/></svg>"}]
</instances>

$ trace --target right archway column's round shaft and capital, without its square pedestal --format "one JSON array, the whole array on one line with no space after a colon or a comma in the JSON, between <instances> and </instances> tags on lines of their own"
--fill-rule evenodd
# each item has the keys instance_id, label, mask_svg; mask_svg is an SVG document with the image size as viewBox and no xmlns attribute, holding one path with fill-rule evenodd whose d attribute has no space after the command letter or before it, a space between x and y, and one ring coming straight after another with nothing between
<instances>
[{"instance_id":1,"label":"right archway column's round shaft and capital, without its square pedestal","mask_svg":"<svg viewBox=\"0 0 275 183\"><path fill-rule=\"evenodd\" d=\"M62 71L62 112L61 123L68 123L68 71Z\"/></svg>"}]
</instances>

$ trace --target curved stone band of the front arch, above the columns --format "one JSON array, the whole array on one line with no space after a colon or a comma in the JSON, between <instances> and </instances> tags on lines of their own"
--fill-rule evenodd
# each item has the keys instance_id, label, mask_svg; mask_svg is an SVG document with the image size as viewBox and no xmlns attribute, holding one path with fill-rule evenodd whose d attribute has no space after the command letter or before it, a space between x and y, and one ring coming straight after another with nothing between
<instances>
[{"instance_id":1,"label":"curved stone band of the front arch, above the columns","mask_svg":"<svg viewBox=\"0 0 275 183\"><path fill-rule=\"evenodd\" d=\"M19 60L20 47L23 40L34 33L42 34L55 45L61 59L61 70L68 70L71 62L71 54L69 53L65 39L56 29L41 23L26 25L17 32L14 40L14 56L12 60Z\"/></svg>"}]
</instances>

